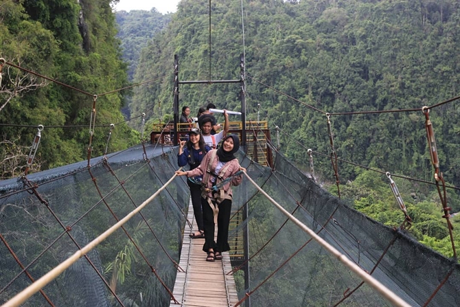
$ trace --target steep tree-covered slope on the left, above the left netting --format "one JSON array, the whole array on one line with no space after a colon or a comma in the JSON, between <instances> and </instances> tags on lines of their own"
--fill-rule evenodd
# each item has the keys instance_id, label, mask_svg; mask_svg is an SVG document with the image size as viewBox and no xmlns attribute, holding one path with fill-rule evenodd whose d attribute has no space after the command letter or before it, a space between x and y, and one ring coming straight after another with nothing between
<instances>
[{"instance_id":1,"label":"steep tree-covered slope on the left, above the left netting","mask_svg":"<svg viewBox=\"0 0 460 307\"><path fill-rule=\"evenodd\" d=\"M39 124L45 130L41 132L41 144L31 171L87 158L93 95L128 85L127 65L122 61L120 42L115 37L117 25L110 3L109 0L0 1L0 57L74 88L34 78L4 65L0 123L7 126L0 126L2 178L23 172L36 134L34 127ZM93 157L104 153L110 124L117 124L110 151L139 141L131 128L122 123L124 94L115 92L97 97Z\"/></svg>"}]
</instances>

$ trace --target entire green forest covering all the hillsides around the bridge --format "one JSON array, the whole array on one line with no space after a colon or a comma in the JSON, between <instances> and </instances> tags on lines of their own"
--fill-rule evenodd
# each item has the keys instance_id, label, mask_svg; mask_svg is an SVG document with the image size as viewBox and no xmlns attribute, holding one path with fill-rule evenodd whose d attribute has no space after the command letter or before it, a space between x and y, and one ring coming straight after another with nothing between
<instances>
[{"instance_id":1,"label":"entire green forest covering all the hillsides around the bridge","mask_svg":"<svg viewBox=\"0 0 460 307\"><path fill-rule=\"evenodd\" d=\"M141 113L148 115L147 133L153 122L172 116L175 54L180 80L233 80L240 78L244 52L246 116L255 120L260 110L273 141L279 126L282 153L305 171L306 148L323 154L314 155L315 175L337 194L325 113L332 114L336 155L352 162L338 163L341 197L398 227L404 214L387 177L367 168L419 179L393 178L413 220L409 231L452 256L437 187L422 182L434 183L424 113L391 111L421 109L459 95L458 1L213 0L211 27L209 1L183 0L168 15L115 14L115 2L0 0L0 57L81 90L3 65L3 179L23 172L38 124L56 128L42 131L34 171L82 161L89 151L103 155L110 124L115 129L109 150L125 149L140 141ZM154 81L117 91L146 80ZM240 95L238 84L181 85L180 104L197 111L213 102L241 111ZM458 187L459 103L442 104L429 114L439 168L446 184ZM449 188L447 195L452 212L459 212L459 189ZM460 246L456 217L452 223Z\"/></svg>"}]
</instances>

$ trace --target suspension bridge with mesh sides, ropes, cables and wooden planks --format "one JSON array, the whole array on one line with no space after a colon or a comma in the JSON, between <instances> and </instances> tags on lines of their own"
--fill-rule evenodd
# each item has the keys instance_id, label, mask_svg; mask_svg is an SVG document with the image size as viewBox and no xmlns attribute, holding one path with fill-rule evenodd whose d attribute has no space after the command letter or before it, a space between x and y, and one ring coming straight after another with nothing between
<instances>
[{"instance_id":1,"label":"suspension bridge with mesh sides, ropes, cables and wooden planks","mask_svg":"<svg viewBox=\"0 0 460 307\"><path fill-rule=\"evenodd\" d=\"M209 25L209 57L210 33ZM2 65L22 69L5 60ZM448 186L429 118L430 110L458 98L410 110L326 113L288 96L325 115L330 154L305 149L310 170L313 157L330 158L336 197L273 146L268 127L246 121L246 78L286 94L246 74L244 53L240 69L235 80L211 80L209 66L209 80L182 81L175 57L168 140L163 129L150 135L150 144L115 153L107 145L103 157L91 157L97 95L80 91L93 99L88 161L28 174L47 128L37 126L25 173L0 182L1 306L459 306L460 266L443 198ZM210 265L200 240L188 238L196 229L187 185L174 176L174 145L181 135L179 86L222 82L241 88L242 121L233 133L244 144L238 159L247 172L234 188L231 251ZM400 227L377 223L340 199L337 165L348 161L336 155L330 117L419 111L426 117L454 259L409 236L411 219L394 182L406 218ZM276 132L285 133L278 126Z\"/></svg>"}]
</instances>

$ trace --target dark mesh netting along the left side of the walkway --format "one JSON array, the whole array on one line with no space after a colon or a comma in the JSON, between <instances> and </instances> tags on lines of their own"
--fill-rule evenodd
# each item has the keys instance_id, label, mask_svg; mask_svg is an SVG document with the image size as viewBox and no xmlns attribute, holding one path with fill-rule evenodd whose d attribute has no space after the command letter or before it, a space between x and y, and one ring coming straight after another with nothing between
<instances>
[{"instance_id":1,"label":"dark mesh netting along the left side of the walkway","mask_svg":"<svg viewBox=\"0 0 460 307\"><path fill-rule=\"evenodd\" d=\"M1 242L0 303L31 284L25 271L35 280L43 276L114 225L115 216L124 218L143 203L177 168L171 153L157 150L147 163L141 148L134 152L109 157L107 163L100 160L91 169L80 163L33 174L40 198L19 180L2 182L0 234L18 261ZM124 225L131 239L122 229L115 231L25 306L167 306L165 286L174 286L172 260L179 262L189 197L183 179L174 180Z\"/></svg>"}]
</instances>

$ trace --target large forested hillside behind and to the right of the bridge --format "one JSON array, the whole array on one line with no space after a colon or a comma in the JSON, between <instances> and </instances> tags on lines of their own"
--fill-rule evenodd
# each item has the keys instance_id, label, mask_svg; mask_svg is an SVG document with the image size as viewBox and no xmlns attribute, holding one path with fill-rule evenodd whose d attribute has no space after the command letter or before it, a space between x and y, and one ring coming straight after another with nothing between
<instances>
[{"instance_id":1,"label":"large forested hillside behind and to the right of the bridge","mask_svg":"<svg viewBox=\"0 0 460 307\"><path fill-rule=\"evenodd\" d=\"M142 50L135 82L159 81L135 89L133 115L153 112L150 123L171 118L165 113L172 113L174 54L179 56L180 80L239 78L241 3L211 1L209 47L208 2L181 1L168 27ZM422 111L383 111L421 109L459 95L458 1L248 0L243 4L248 118L255 120L260 104L261 119L284 131L281 152L305 170L306 148L323 153L314 156L314 168L327 183L335 181L327 117L313 108L325 113L382 111L332 115L330 121L336 154L355 163L338 163L343 198L353 198L356 208L398 227L404 215L391 194L389 179L356 164L434 182ZM183 84L179 92L181 106L192 110L210 101L218 108L240 111L238 84ZM458 186L459 104L442 104L429 115L440 170L448 185ZM395 181L414 220L412 233L452 255L436 186ZM336 192L335 185L330 190ZM448 189L452 212L460 209L456 192Z\"/></svg>"}]
</instances>

